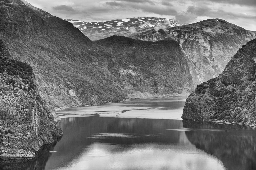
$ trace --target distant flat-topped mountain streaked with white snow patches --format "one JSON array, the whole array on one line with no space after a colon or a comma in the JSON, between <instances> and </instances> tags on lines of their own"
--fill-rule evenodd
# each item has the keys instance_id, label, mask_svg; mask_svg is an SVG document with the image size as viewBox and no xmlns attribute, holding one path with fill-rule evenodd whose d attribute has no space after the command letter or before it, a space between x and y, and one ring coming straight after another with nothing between
<instances>
[{"instance_id":1,"label":"distant flat-topped mountain streaked with white snow patches","mask_svg":"<svg viewBox=\"0 0 256 170\"><path fill-rule=\"evenodd\" d=\"M90 40L99 40L112 35L132 36L138 31L166 29L184 25L177 20L165 18L126 18L105 22L84 22L71 19L63 19L71 22L74 27L86 35Z\"/></svg>"}]
</instances>

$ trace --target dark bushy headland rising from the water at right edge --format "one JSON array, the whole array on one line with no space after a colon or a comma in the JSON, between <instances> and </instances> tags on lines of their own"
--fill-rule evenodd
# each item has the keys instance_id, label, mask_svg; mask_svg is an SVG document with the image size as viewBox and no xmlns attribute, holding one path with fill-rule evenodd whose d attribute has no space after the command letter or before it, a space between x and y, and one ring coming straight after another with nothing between
<instances>
[{"instance_id":1,"label":"dark bushy headland rising from the water at right edge","mask_svg":"<svg viewBox=\"0 0 256 170\"><path fill-rule=\"evenodd\" d=\"M183 119L256 126L256 39L240 48L223 73L189 95Z\"/></svg>"}]
</instances>

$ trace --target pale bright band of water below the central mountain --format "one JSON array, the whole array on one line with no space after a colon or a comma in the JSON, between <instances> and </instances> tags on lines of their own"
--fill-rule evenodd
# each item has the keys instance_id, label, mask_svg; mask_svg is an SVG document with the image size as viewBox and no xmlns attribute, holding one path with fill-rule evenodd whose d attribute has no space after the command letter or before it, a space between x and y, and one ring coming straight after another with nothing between
<instances>
[{"instance_id":1,"label":"pale bright band of water below the central mountain","mask_svg":"<svg viewBox=\"0 0 256 170\"><path fill-rule=\"evenodd\" d=\"M146 119L181 119L187 97L169 97L152 99L134 99L119 103L107 103L99 106L68 108L57 112L65 117L120 117Z\"/></svg>"}]
</instances>

